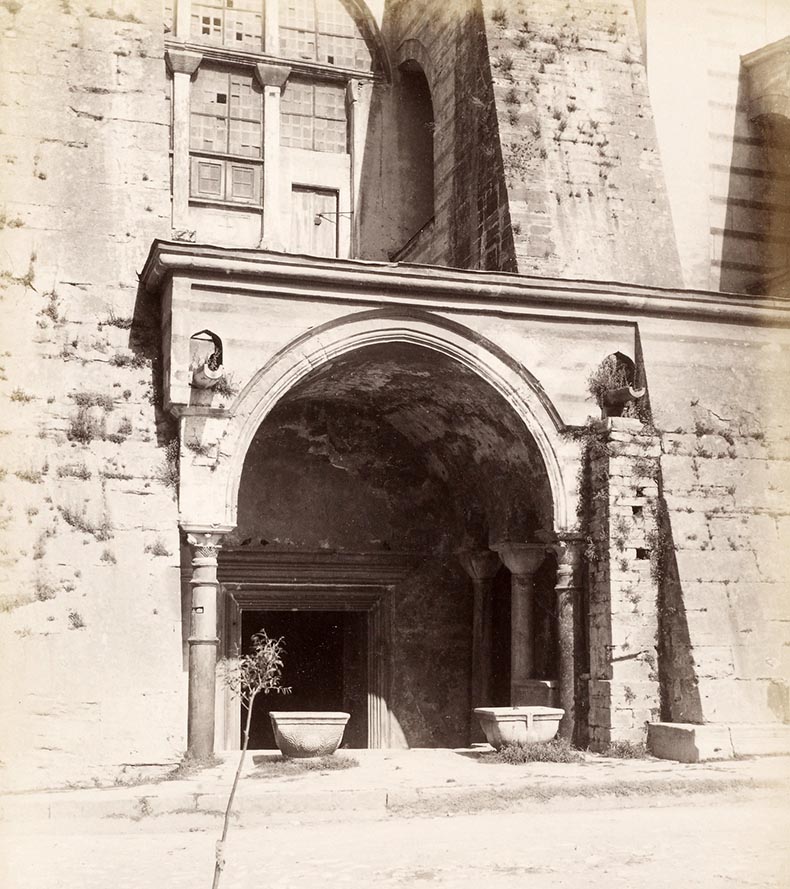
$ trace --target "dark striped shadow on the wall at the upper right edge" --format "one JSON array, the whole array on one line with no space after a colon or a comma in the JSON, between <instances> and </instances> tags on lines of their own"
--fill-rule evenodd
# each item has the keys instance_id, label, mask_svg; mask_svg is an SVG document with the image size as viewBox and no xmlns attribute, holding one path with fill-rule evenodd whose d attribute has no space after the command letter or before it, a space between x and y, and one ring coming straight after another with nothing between
<instances>
[{"instance_id":1,"label":"dark striped shadow on the wall at the upper right edge","mask_svg":"<svg viewBox=\"0 0 790 889\"><path fill-rule=\"evenodd\" d=\"M750 122L747 72L741 70L722 230L719 289L763 293L790 265L790 121L767 115ZM712 235L716 234L714 229Z\"/></svg>"}]
</instances>

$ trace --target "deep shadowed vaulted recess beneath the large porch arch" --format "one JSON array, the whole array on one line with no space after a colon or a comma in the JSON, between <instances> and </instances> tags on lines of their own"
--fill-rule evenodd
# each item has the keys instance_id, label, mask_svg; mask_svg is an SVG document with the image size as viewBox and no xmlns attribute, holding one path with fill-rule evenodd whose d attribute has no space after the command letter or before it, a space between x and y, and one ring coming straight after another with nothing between
<instances>
[{"instance_id":1,"label":"deep shadowed vaulted recess beneath the large porch arch","mask_svg":"<svg viewBox=\"0 0 790 889\"><path fill-rule=\"evenodd\" d=\"M400 339L345 350L284 391L251 437L237 529L220 558L238 609L226 632L242 650L260 626L285 636L295 694L272 709L355 710L354 746L374 734L377 746L465 744L473 703L509 701L472 701L473 594L459 551L541 539L554 502L522 417L467 364ZM283 559L292 580L280 572L273 596L266 578ZM245 568L231 590L234 560ZM544 674L556 669L551 570L535 598ZM490 693L504 697L502 571L484 658ZM379 698L387 725L374 733L370 701ZM270 743L267 722L260 707L253 746Z\"/></svg>"}]
</instances>

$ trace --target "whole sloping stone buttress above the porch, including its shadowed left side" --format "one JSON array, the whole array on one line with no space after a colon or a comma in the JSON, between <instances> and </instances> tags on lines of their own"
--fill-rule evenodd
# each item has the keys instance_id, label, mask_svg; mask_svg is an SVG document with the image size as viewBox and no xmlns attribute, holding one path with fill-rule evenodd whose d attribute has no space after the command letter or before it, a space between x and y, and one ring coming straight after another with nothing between
<instances>
[{"instance_id":1,"label":"whole sloping stone buttress above the porch, including its shadowed left side","mask_svg":"<svg viewBox=\"0 0 790 889\"><path fill-rule=\"evenodd\" d=\"M410 0L384 25L436 109L436 221L402 258L680 282L631 3Z\"/></svg>"}]
</instances>

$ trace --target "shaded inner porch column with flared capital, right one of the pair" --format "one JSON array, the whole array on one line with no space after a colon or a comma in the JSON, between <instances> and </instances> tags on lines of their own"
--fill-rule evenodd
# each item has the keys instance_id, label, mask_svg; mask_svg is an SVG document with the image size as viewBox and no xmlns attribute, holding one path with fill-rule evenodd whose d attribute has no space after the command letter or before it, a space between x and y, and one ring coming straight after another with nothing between
<instances>
[{"instance_id":1,"label":"shaded inner porch column with flared capital, right one of the pair","mask_svg":"<svg viewBox=\"0 0 790 889\"><path fill-rule=\"evenodd\" d=\"M498 543L493 547L510 571L510 703L526 703L535 676L534 575L546 557L543 543Z\"/></svg>"}]
</instances>

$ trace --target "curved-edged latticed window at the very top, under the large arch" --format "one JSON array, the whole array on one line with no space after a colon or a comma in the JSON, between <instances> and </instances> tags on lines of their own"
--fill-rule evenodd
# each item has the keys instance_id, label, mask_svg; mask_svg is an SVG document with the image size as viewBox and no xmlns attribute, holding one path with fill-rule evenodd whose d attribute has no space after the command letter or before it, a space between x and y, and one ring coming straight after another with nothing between
<instances>
[{"instance_id":1,"label":"curved-edged latticed window at the very top, under the large arch","mask_svg":"<svg viewBox=\"0 0 790 889\"><path fill-rule=\"evenodd\" d=\"M280 54L341 68L370 71L362 29L344 0L279 0Z\"/></svg>"}]
</instances>

